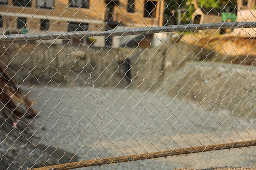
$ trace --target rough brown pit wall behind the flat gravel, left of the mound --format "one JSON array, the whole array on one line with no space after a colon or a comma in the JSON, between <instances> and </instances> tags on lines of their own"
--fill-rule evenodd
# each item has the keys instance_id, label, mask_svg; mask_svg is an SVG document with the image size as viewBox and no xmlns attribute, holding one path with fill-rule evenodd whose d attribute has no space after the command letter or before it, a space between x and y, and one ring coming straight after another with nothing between
<instances>
[{"instance_id":1,"label":"rough brown pit wall behind the flat gravel, left of the mound","mask_svg":"<svg viewBox=\"0 0 256 170\"><path fill-rule=\"evenodd\" d=\"M35 83L45 85L51 82L76 86L94 84L98 87L128 86L124 62L127 57L141 50L70 45L63 47L58 44L47 46L34 42L9 45L7 43L6 47L7 52L0 57L2 66L8 68L9 74L15 75L19 84L25 82L30 85ZM180 49L184 50L180 51ZM185 62L194 58L195 55L190 53L190 48L180 43L161 46L158 49L148 48L130 59L132 65L130 73L133 79L130 86L156 88L159 86L159 79L162 79L163 71L177 66L176 59Z\"/></svg>"}]
</instances>

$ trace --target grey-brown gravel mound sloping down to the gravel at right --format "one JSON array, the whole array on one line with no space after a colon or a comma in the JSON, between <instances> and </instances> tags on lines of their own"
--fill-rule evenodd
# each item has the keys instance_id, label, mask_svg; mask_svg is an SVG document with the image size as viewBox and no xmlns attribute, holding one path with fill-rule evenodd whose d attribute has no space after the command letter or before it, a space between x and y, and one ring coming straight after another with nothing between
<instances>
[{"instance_id":1,"label":"grey-brown gravel mound sloping down to the gravel at right","mask_svg":"<svg viewBox=\"0 0 256 170\"><path fill-rule=\"evenodd\" d=\"M163 89L206 109L228 109L235 116L254 121L255 75L256 66L191 62L171 74Z\"/></svg>"}]
</instances>

